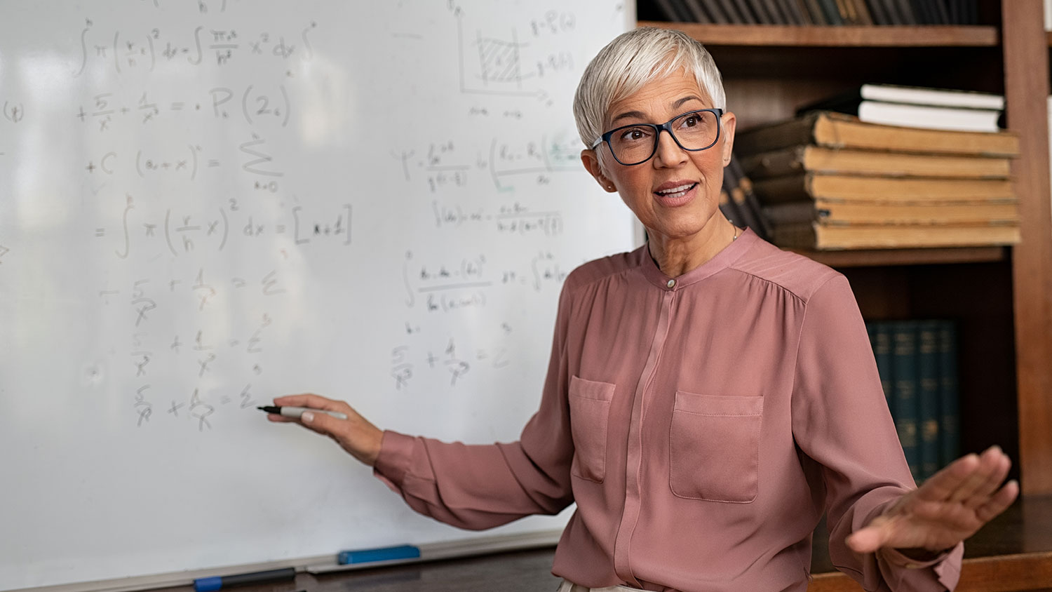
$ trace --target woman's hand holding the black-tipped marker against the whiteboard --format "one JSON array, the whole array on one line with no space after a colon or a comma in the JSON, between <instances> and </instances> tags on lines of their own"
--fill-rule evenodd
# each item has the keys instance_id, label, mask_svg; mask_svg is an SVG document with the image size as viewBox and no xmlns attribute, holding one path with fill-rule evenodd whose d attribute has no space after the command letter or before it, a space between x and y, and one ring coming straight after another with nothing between
<instances>
[{"instance_id":1,"label":"woman's hand holding the black-tipped marker against the whiteboard","mask_svg":"<svg viewBox=\"0 0 1052 592\"><path fill-rule=\"evenodd\" d=\"M346 420L338 420L327 413L305 411L299 420L294 420L267 413L267 420L279 424L300 424L307 429L331 437L351 456L366 465L371 467L377 463L384 432L359 415L345 402L308 393L278 396L275 397L274 404L279 407L309 407L346 414Z\"/></svg>"}]
</instances>

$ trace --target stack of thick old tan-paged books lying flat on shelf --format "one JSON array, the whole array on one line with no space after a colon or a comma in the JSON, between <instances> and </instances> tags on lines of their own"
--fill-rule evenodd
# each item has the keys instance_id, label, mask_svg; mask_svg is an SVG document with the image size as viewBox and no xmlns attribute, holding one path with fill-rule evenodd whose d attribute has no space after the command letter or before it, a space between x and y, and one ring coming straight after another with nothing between
<instances>
[{"instance_id":1,"label":"stack of thick old tan-paged books lying flat on shelf","mask_svg":"<svg viewBox=\"0 0 1052 592\"><path fill-rule=\"evenodd\" d=\"M810 111L734 142L771 238L798 249L1019 241L1009 131L924 129Z\"/></svg>"}]
</instances>

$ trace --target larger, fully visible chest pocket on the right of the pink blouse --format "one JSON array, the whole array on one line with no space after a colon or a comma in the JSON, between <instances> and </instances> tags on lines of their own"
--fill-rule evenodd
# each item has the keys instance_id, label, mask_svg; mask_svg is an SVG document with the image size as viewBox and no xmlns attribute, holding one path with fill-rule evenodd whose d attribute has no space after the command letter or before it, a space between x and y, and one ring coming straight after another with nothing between
<instances>
[{"instance_id":1,"label":"larger, fully visible chest pocket on the right of the pink blouse","mask_svg":"<svg viewBox=\"0 0 1052 592\"><path fill-rule=\"evenodd\" d=\"M677 391L669 429L669 486L677 497L756 498L763 396Z\"/></svg>"}]
</instances>

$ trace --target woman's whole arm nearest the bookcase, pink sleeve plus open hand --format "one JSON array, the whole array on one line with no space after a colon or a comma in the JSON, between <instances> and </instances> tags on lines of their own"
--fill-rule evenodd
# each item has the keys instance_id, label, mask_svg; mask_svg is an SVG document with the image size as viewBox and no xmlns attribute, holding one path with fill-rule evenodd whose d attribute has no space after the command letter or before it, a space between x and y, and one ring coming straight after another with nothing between
<instances>
[{"instance_id":1,"label":"woman's whole arm nearest the bookcase, pink sleeve plus open hand","mask_svg":"<svg viewBox=\"0 0 1052 592\"><path fill-rule=\"evenodd\" d=\"M821 468L833 564L870 590L952 589L960 542L1017 491L998 489L1004 453L966 456L915 488L843 275L809 299L797 348L793 437Z\"/></svg>"}]
</instances>

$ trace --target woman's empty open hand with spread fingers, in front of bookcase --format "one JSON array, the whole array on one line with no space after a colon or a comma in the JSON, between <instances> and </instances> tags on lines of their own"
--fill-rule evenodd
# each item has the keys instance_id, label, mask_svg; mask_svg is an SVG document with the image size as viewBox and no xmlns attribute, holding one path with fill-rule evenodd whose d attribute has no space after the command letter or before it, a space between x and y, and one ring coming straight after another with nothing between
<instances>
[{"instance_id":1,"label":"woman's empty open hand with spread fingers, in front of bookcase","mask_svg":"<svg viewBox=\"0 0 1052 592\"><path fill-rule=\"evenodd\" d=\"M915 556L955 546L1015 501L1019 484L1000 486L1011 465L996 446L957 458L848 536L848 547L858 553L894 548Z\"/></svg>"}]
</instances>

